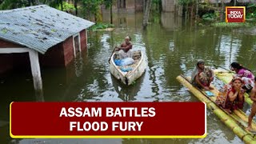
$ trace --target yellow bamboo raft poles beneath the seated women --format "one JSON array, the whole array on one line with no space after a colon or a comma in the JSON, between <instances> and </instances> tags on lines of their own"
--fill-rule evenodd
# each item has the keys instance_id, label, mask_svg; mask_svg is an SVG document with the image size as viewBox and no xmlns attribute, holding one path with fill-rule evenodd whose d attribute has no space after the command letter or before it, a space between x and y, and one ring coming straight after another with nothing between
<instances>
[{"instance_id":1,"label":"yellow bamboo raft poles beneath the seated women","mask_svg":"<svg viewBox=\"0 0 256 144\"><path fill-rule=\"evenodd\" d=\"M246 143L256 143L256 135L246 130L248 117L242 110L234 110L234 112L230 114L215 103L219 91L214 86L214 90L210 90L214 96L209 97L204 90L194 87L190 83L190 78L179 75L177 80L186 86L200 101L205 102L207 108L213 110L214 114L216 114L226 126L233 130L234 134L237 134L242 141ZM256 130L256 123L254 121L252 122L252 127Z\"/></svg>"}]
</instances>

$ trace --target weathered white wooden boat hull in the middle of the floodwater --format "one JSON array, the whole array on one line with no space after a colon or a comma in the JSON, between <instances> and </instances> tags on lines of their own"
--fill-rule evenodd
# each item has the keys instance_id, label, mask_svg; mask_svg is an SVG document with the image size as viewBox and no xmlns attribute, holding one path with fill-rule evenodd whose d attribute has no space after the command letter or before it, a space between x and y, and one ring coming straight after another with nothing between
<instances>
[{"instance_id":1,"label":"weathered white wooden boat hull in the middle of the floodwater","mask_svg":"<svg viewBox=\"0 0 256 144\"><path fill-rule=\"evenodd\" d=\"M118 59L118 54L114 53L110 58L110 73L127 86L140 78L146 71L147 57L141 50L133 52L134 63L130 66L117 66L114 59ZM122 71L122 68L131 68L132 70Z\"/></svg>"}]
</instances>

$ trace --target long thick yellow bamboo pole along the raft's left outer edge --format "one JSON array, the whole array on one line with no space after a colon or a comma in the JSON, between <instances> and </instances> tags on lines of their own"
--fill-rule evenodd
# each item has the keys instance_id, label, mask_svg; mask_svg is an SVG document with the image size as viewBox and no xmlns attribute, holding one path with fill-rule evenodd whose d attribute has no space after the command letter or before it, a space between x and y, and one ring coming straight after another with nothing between
<instances>
[{"instance_id":1,"label":"long thick yellow bamboo pole along the raft's left outer edge","mask_svg":"<svg viewBox=\"0 0 256 144\"><path fill-rule=\"evenodd\" d=\"M184 86L189 88L190 92L194 94L200 101L206 102L206 106L208 109L213 110L214 114L221 119L222 122L226 124L234 134L237 134L242 141L246 143L256 143L256 140L253 138L253 134L247 132L242 129L242 126L238 122L234 120L234 118L230 117L230 115L226 114L222 109L220 109L214 102L212 102L209 98L206 98L206 95L202 94L197 88L192 86L190 82L188 82L185 78L182 78L181 75L177 77L178 82L181 82Z\"/></svg>"}]
</instances>

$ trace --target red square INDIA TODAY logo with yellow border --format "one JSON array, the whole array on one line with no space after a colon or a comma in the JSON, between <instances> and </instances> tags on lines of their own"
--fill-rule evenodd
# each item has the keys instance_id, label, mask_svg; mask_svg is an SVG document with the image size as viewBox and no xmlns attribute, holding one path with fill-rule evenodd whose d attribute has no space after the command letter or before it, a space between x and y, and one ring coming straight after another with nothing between
<instances>
[{"instance_id":1,"label":"red square INDIA TODAY logo with yellow border","mask_svg":"<svg viewBox=\"0 0 256 144\"><path fill-rule=\"evenodd\" d=\"M246 22L246 6L226 6L226 22Z\"/></svg>"}]
</instances>

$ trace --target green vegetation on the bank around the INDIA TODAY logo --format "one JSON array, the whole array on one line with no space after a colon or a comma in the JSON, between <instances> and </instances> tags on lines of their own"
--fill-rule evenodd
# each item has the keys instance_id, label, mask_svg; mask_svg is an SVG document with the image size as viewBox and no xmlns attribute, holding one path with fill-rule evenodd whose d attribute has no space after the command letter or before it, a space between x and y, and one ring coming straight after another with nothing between
<instances>
[{"instance_id":1,"label":"green vegetation on the bank around the INDIA TODAY logo","mask_svg":"<svg viewBox=\"0 0 256 144\"><path fill-rule=\"evenodd\" d=\"M210 3L209 1L201 2L199 0L178 0L178 3L185 8L186 18L198 20L198 24L217 22L216 26L250 26L250 24L231 24L225 25L225 6L245 6L245 3L232 1L231 3ZM256 21L256 5L246 4L246 22Z\"/></svg>"}]
</instances>

